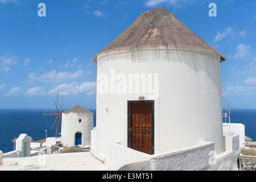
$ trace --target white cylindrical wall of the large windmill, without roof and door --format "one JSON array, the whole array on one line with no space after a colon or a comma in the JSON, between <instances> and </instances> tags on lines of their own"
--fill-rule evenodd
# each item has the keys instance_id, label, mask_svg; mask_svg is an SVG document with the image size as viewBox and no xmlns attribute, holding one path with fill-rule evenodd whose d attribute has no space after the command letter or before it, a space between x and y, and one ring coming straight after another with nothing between
<instances>
[{"instance_id":1,"label":"white cylindrical wall of the large windmill, without roof and door","mask_svg":"<svg viewBox=\"0 0 256 182\"><path fill-rule=\"evenodd\" d=\"M139 96L155 101L155 154L200 141L214 142L216 153L223 152L219 57L151 50L104 55L97 64L97 154L108 158L110 142L127 146L127 101ZM153 78L153 93L129 93L129 84L120 92L123 78L128 83L129 74L135 73ZM102 87L106 76L108 89Z\"/></svg>"}]
</instances>

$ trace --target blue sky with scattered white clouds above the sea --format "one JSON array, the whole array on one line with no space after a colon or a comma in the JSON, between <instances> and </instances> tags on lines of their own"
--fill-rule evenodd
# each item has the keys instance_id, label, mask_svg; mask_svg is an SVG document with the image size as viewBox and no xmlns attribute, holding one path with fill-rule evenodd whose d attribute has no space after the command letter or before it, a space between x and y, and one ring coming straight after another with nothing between
<instances>
[{"instance_id":1,"label":"blue sky with scattered white clouds above the sea","mask_svg":"<svg viewBox=\"0 0 256 182\"><path fill-rule=\"evenodd\" d=\"M210 17L209 3L217 16ZM39 17L39 3L46 17ZM91 60L147 10L166 8L217 49L222 104L256 109L256 1L0 0L0 108L96 108ZM59 100L60 101L60 100Z\"/></svg>"}]
</instances>

